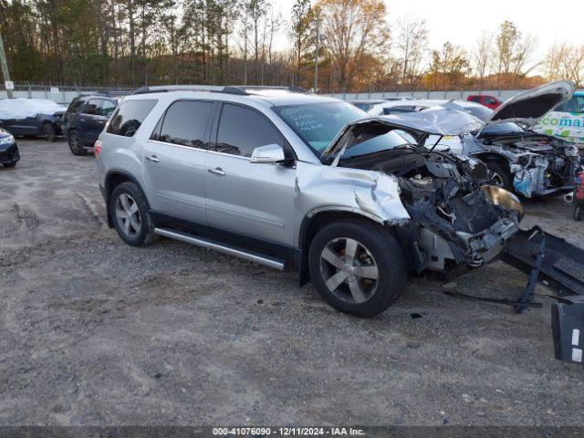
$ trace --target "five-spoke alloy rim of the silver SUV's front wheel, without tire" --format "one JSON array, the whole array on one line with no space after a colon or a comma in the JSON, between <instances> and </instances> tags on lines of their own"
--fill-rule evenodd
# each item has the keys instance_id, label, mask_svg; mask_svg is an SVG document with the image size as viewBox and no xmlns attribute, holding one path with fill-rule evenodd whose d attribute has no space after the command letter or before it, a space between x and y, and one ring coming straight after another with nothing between
<instances>
[{"instance_id":1,"label":"five-spoke alloy rim of the silver SUV's front wheel, without tire","mask_svg":"<svg viewBox=\"0 0 584 438\"><path fill-rule=\"evenodd\" d=\"M370 250L355 239L339 237L320 254L320 272L328 290L339 299L360 304L375 293L379 269Z\"/></svg>"}]
</instances>

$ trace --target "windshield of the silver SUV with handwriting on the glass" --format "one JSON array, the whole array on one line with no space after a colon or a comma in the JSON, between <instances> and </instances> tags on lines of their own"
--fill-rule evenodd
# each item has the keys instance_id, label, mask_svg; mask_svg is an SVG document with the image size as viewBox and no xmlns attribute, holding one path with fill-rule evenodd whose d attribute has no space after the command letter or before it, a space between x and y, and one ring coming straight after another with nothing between
<instances>
[{"instance_id":1,"label":"windshield of the silver SUV with handwriting on the glass","mask_svg":"<svg viewBox=\"0 0 584 438\"><path fill-rule=\"evenodd\" d=\"M318 158L349 122L369 117L347 102L287 105L274 110Z\"/></svg>"}]
</instances>

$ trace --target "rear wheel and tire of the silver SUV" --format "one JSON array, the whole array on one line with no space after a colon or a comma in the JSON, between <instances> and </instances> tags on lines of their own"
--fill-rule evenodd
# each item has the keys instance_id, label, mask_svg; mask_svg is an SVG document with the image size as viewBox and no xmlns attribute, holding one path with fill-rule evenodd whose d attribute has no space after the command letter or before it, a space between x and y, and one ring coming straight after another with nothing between
<instances>
[{"instance_id":1,"label":"rear wheel and tire of the silver SUV","mask_svg":"<svg viewBox=\"0 0 584 438\"><path fill-rule=\"evenodd\" d=\"M144 246L154 241L150 207L135 183L121 183L113 190L110 214L118 235L126 244Z\"/></svg>"}]
</instances>

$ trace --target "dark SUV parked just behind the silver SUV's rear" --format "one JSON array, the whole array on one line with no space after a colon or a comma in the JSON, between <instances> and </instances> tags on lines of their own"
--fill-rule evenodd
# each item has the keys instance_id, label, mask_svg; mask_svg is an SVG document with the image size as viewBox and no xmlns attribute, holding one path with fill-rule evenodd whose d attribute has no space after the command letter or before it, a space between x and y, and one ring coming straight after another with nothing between
<instances>
[{"instance_id":1,"label":"dark SUV parked just behind the silver SUV's rear","mask_svg":"<svg viewBox=\"0 0 584 438\"><path fill-rule=\"evenodd\" d=\"M61 127L74 155L93 150L99 133L118 107L120 98L108 95L79 96L71 101Z\"/></svg>"}]
</instances>

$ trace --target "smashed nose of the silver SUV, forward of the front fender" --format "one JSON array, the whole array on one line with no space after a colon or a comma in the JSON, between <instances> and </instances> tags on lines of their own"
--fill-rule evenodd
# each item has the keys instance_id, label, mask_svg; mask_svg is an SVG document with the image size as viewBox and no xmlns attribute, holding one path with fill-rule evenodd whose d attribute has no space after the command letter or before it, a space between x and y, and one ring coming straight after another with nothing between
<instances>
[{"instance_id":1,"label":"smashed nose of the silver SUV, forward of the front fender","mask_svg":"<svg viewBox=\"0 0 584 438\"><path fill-rule=\"evenodd\" d=\"M416 270L453 272L494 260L519 230L522 210L515 196L506 192L510 202L497 204L495 193L481 190L482 163L453 162L433 152L421 164L399 178L401 201L418 235Z\"/></svg>"}]
</instances>

